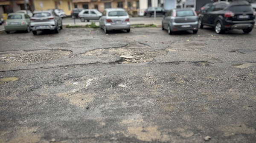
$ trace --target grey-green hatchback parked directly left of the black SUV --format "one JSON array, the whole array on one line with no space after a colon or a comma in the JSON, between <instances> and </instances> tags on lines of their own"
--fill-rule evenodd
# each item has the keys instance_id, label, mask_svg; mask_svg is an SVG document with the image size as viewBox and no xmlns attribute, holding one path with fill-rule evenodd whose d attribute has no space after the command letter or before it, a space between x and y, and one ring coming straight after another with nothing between
<instances>
[{"instance_id":1,"label":"grey-green hatchback parked directly left of the black SUV","mask_svg":"<svg viewBox=\"0 0 256 143\"><path fill-rule=\"evenodd\" d=\"M192 30L194 34L198 32L198 17L193 9L173 9L163 17L162 29L167 29L168 34L175 31Z\"/></svg>"}]
</instances>

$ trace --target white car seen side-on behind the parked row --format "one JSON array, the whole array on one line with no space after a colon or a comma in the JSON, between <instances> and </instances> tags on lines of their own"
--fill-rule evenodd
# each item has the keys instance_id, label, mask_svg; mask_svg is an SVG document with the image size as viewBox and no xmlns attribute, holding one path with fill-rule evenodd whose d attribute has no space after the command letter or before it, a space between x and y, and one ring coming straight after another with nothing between
<instances>
[{"instance_id":1,"label":"white car seen side-on behind the parked row","mask_svg":"<svg viewBox=\"0 0 256 143\"><path fill-rule=\"evenodd\" d=\"M83 9L79 12L78 17L80 18L81 22L90 21L90 20L99 20L99 17L102 16L102 13L99 12L97 9Z\"/></svg>"}]
</instances>

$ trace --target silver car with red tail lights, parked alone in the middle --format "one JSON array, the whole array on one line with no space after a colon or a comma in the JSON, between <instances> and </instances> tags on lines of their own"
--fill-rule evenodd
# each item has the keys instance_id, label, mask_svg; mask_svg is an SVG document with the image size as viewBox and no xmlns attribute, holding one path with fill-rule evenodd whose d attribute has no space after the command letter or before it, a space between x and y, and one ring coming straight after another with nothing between
<instances>
[{"instance_id":1,"label":"silver car with red tail lights, parked alone in the middle","mask_svg":"<svg viewBox=\"0 0 256 143\"><path fill-rule=\"evenodd\" d=\"M130 32L129 15L123 8L106 8L99 18L99 26L107 34L111 30L126 30Z\"/></svg>"}]
</instances>

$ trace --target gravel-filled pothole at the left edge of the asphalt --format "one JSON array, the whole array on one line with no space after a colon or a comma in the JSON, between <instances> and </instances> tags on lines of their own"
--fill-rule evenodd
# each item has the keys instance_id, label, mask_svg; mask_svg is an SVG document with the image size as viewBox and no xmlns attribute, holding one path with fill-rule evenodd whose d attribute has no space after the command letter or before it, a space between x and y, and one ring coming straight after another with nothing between
<instances>
[{"instance_id":1,"label":"gravel-filled pothole at the left edge of the asphalt","mask_svg":"<svg viewBox=\"0 0 256 143\"><path fill-rule=\"evenodd\" d=\"M6 63L43 62L70 55L70 50L32 50L0 52L0 61Z\"/></svg>"}]
</instances>

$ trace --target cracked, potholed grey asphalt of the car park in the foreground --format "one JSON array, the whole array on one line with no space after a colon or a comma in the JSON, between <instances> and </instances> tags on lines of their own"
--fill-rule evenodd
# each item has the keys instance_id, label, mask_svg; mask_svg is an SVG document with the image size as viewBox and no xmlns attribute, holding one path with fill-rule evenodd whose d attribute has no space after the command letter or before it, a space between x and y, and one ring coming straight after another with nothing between
<instances>
[{"instance_id":1,"label":"cracked, potholed grey asphalt of the car park in the foreground","mask_svg":"<svg viewBox=\"0 0 256 143\"><path fill-rule=\"evenodd\" d=\"M0 39L0 143L256 143L255 29Z\"/></svg>"}]
</instances>

